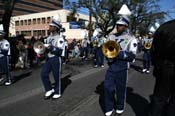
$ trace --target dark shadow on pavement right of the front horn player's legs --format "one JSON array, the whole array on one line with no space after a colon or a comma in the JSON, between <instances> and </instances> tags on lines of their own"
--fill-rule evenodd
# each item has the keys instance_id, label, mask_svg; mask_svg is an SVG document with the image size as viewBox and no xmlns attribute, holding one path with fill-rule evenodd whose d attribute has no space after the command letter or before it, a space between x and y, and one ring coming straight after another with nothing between
<instances>
[{"instance_id":1,"label":"dark shadow on pavement right of the front horn player's legs","mask_svg":"<svg viewBox=\"0 0 175 116\"><path fill-rule=\"evenodd\" d=\"M148 116L149 102L139 94L134 93L131 87L127 87L126 102L132 107L135 116Z\"/></svg>"}]
</instances>

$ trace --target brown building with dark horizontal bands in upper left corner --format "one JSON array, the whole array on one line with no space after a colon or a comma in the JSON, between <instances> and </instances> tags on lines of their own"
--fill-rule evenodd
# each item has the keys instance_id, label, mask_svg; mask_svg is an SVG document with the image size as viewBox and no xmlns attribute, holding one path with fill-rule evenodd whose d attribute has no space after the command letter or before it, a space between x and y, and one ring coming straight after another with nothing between
<instances>
[{"instance_id":1,"label":"brown building with dark horizontal bands in upper left corner","mask_svg":"<svg viewBox=\"0 0 175 116\"><path fill-rule=\"evenodd\" d=\"M63 0L0 0L0 22L5 9L12 6L12 16L19 16L63 9Z\"/></svg>"}]
</instances>

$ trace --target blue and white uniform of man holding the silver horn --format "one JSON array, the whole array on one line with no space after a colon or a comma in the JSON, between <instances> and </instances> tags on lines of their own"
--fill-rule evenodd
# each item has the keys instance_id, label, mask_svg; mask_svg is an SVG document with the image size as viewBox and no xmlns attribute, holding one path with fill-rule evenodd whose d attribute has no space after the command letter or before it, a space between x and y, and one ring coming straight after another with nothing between
<instances>
[{"instance_id":1,"label":"blue and white uniform of man holding the silver horn","mask_svg":"<svg viewBox=\"0 0 175 116\"><path fill-rule=\"evenodd\" d=\"M42 71L41 71L41 78L44 84L44 88L46 91L52 90L52 84L49 80L49 73L52 71L54 80L55 80L55 87L54 91L55 94L61 94L61 56L64 56L65 46L64 46L64 39L59 34L50 35L47 40L46 44L49 44L50 47L47 50L47 59L46 63L44 64Z\"/></svg>"}]
</instances>

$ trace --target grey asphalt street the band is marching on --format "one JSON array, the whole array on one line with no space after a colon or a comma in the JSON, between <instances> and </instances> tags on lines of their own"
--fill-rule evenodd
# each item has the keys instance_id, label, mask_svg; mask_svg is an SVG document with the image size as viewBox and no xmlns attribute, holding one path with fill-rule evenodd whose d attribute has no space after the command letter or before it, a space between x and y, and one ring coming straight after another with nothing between
<instances>
[{"instance_id":1,"label":"grey asphalt street the band is marching on","mask_svg":"<svg viewBox=\"0 0 175 116\"><path fill-rule=\"evenodd\" d=\"M122 116L146 116L154 87L152 70L142 74L142 54L131 64L125 112ZM41 66L13 71L15 83L1 85L1 116L104 116L104 68L93 68L92 61L74 61L63 66L62 97L44 100ZM52 75L51 75L52 76Z\"/></svg>"}]
</instances>

